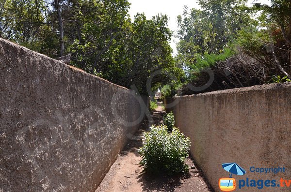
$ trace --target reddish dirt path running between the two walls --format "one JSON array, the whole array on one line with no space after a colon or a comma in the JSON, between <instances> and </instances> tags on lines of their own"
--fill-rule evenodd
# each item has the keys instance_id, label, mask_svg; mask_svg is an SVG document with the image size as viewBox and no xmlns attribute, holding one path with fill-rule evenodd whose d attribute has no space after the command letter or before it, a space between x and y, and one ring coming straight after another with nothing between
<instances>
[{"instance_id":1,"label":"reddish dirt path running between the two walls","mask_svg":"<svg viewBox=\"0 0 291 192\"><path fill-rule=\"evenodd\" d=\"M153 122L162 123L162 106L153 111ZM139 164L141 157L137 150L142 146L141 134L147 130L148 122L133 136L127 147L113 163L107 175L99 185L96 192L211 192L201 177L200 172L194 168L184 176L166 177L163 175L147 176L142 173L143 167ZM189 166L194 163L187 159Z\"/></svg>"}]
</instances>

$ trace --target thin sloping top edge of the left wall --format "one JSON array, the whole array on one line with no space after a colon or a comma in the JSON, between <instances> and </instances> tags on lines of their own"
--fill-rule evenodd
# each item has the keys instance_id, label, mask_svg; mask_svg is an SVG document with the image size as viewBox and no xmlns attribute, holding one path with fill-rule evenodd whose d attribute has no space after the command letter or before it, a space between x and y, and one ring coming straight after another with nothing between
<instances>
[{"instance_id":1,"label":"thin sloping top edge of the left wall","mask_svg":"<svg viewBox=\"0 0 291 192\"><path fill-rule=\"evenodd\" d=\"M56 60L56 59L50 58L50 57L48 57L48 56L46 56L46 55L43 55L43 54L41 54L41 53L38 53L38 52L32 51L32 50L30 50L30 49L28 49L28 48L26 48L26 47L24 47L24 46L21 46L21 45L19 45L19 44L13 43L13 42L8 41L8 40L6 40L6 39L0 38L0 43L4 43L4 44L7 44L8 46L12 46L12 47L22 48L22 49L25 50L25 51L32 52L32 53L37 54L37 55L39 55L39 56L41 56L41 57L44 57L44 58L47 58L47 59L51 59L51 60L53 60L54 62L58 62L60 65L64 65L65 67L69 68L70 70L77 71L77 72L80 72L80 73L84 73L85 75L92 76L92 77L94 77L94 78L97 78L97 79L99 79L99 80L101 80L101 81L105 81L105 82L107 82L107 83L109 83L109 84L112 84L112 85L114 85L114 86L116 86L116 87L119 87L119 88L122 88L122 89L126 89L126 90L129 90L129 91L134 91L134 90L132 90L132 89L127 89L127 88L122 87L122 86L120 86L120 85L114 84L114 83L112 83L112 82L110 82L110 81L108 81L108 80L106 80L106 79L103 79L103 78L101 78L101 77L98 77L98 76L96 76L96 75L88 74L87 72L85 72L85 71L83 71L83 70L81 70L81 69L79 69L79 68L77 68L77 67L74 67L74 66L71 66L71 65L67 65L67 64L65 64L65 63L63 63L63 62L61 62L61 61L59 61L59 60Z\"/></svg>"}]
</instances>

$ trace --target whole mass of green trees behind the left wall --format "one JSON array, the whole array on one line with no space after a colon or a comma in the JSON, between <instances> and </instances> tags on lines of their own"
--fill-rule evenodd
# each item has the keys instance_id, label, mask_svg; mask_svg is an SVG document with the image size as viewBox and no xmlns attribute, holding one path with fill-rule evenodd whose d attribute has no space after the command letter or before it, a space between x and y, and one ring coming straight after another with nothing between
<instances>
[{"instance_id":1,"label":"whole mass of green trees behind the left wall","mask_svg":"<svg viewBox=\"0 0 291 192\"><path fill-rule=\"evenodd\" d=\"M156 15L147 19L137 14L131 21L128 0L58 0L63 21L61 39L54 0L0 0L0 37L52 58L72 52L72 65L115 84L138 89L147 95L146 81L153 90L183 76L171 55L172 31L169 18Z\"/></svg>"}]
</instances>

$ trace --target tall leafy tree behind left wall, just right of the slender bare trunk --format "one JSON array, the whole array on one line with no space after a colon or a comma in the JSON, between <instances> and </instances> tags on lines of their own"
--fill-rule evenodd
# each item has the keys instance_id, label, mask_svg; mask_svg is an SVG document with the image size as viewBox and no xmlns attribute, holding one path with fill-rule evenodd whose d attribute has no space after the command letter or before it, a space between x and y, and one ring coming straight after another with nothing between
<instances>
[{"instance_id":1,"label":"tall leafy tree behind left wall, just right of the slender bare trunk","mask_svg":"<svg viewBox=\"0 0 291 192\"><path fill-rule=\"evenodd\" d=\"M124 51L128 39L130 20L127 14L129 3L126 0L103 0L84 2L80 6L77 23L81 35L71 45L73 64L90 74L109 78L116 60L124 62Z\"/></svg>"}]
</instances>

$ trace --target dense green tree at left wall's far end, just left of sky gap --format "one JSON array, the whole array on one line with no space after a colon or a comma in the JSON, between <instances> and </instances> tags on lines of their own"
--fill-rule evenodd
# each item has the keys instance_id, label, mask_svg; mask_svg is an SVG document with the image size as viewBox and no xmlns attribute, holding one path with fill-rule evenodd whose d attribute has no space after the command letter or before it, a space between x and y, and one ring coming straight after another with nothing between
<instances>
[{"instance_id":1,"label":"dense green tree at left wall's far end, just left of sky gap","mask_svg":"<svg viewBox=\"0 0 291 192\"><path fill-rule=\"evenodd\" d=\"M129 51L132 54L132 66L129 68L128 86L135 84L145 94L146 81L154 72L162 70L152 81L152 87L157 89L171 81L171 72L176 77L181 76L171 55L169 44L172 32L167 27L168 17L157 15L147 20L144 14L135 16L132 34L129 41Z\"/></svg>"}]
</instances>

